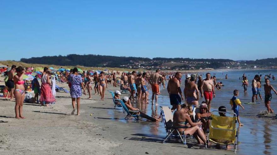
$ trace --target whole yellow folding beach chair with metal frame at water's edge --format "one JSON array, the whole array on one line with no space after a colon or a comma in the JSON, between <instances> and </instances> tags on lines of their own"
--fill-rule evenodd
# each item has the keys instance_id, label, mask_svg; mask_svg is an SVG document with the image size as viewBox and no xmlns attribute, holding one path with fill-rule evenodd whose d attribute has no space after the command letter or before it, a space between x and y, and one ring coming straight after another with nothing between
<instances>
[{"instance_id":1,"label":"whole yellow folding beach chair with metal frame at water's edge","mask_svg":"<svg viewBox=\"0 0 277 155\"><path fill-rule=\"evenodd\" d=\"M214 142L219 145L229 145L234 144L234 152L237 151L237 115L233 112L222 112L229 113L232 116L219 116L215 115L215 112L222 111L212 111L212 120L210 121L209 127L210 132L208 133L206 148L208 148L209 142Z\"/></svg>"}]
</instances>

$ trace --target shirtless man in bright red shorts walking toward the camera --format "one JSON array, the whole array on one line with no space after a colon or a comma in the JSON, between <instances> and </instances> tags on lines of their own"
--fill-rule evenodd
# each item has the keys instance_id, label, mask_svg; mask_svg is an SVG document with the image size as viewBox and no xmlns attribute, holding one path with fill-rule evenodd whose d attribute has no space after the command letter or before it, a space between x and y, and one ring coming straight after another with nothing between
<instances>
[{"instance_id":1,"label":"shirtless man in bright red shorts walking toward the camera","mask_svg":"<svg viewBox=\"0 0 277 155\"><path fill-rule=\"evenodd\" d=\"M213 86L213 81L211 79L211 74L207 73L206 74L206 79L204 79L201 83L201 91L204 91L201 94L201 97L205 97L205 102L208 105L209 112L211 111L211 101L212 97L215 97L214 93L214 86ZM212 95L213 94L213 95Z\"/></svg>"}]
</instances>

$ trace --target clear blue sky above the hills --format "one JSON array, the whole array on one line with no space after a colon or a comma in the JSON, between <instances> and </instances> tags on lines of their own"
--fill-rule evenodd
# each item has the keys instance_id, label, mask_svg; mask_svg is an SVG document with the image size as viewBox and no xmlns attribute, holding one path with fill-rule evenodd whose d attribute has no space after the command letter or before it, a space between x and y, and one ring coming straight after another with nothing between
<instances>
[{"instance_id":1,"label":"clear blue sky above the hills","mask_svg":"<svg viewBox=\"0 0 277 155\"><path fill-rule=\"evenodd\" d=\"M4 1L0 60L277 57L277 1Z\"/></svg>"}]
</instances>

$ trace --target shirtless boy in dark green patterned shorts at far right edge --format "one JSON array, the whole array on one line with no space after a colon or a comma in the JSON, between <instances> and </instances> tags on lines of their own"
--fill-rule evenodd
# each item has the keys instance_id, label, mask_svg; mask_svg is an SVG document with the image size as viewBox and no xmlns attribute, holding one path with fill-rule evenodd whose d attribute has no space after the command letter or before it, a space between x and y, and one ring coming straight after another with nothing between
<instances>
[{"instance_id":1,"label":"shirtless boy in dark green patterned shorts at far right edge","mask_svg":"<svg viewBox=\"0 0 277 155\"><path fill-rule=\"evenodd\" d=\"M263 87L264 87L264 104L265 104L265 107L267 107L268 112L274 113L274 111L270 107L270 102L271 102L271 99L272 99L271 90L273 90L276 95L277 95L277 92L273 88L273 86L269 84L269 79L265 79L265 85L263 85Z\"/></svg>"}]
</instances>

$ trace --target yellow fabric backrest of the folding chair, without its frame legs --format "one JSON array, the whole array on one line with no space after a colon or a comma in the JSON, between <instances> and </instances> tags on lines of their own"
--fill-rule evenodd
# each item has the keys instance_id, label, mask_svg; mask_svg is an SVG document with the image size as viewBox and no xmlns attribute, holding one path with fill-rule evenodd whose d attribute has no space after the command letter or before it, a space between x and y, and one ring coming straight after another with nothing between
<instances>
[{"instance_id":1,"label":"yellow fabric backrest of the folding chair, without its frame legs","mask_svg":"<svg viewBox=\"0 0 277 155\"><path fill-rule=\"evenodd\" d=\"M210 138L235 141L237 117L224 117L212 114L210 123Z\"/></svg>"}]
</instances>

